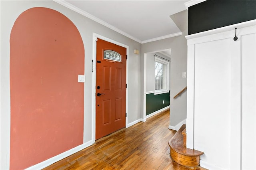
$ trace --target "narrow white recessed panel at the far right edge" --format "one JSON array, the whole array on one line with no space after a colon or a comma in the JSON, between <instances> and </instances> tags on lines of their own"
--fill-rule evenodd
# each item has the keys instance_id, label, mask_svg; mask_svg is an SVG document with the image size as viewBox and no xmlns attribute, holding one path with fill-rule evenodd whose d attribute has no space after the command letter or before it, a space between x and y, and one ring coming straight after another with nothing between
<instances>
[{"instance_id":1,"label":"narrow white recessed panel at the far right edge","mask_svg":"<svg viewBox=\"0 0 256 170\"><path fill-rule=\"evenodd\" d=\"M256 169L256 34L241 37L242 68L242 169Z\"/></svg>"}]
</instances>

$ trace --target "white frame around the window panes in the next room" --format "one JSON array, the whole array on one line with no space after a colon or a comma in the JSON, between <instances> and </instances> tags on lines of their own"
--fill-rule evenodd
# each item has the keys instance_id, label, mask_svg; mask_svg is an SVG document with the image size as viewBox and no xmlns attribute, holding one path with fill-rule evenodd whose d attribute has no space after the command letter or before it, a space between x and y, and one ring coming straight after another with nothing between
<instances>
[{"instance_id":1,"label":"white frame around the window panes in the next room","mask_svg":"<svg viewBox=\"0 0 256 170\"><path fill-rule=\"evenodd\" d=\"M160 90L156 90L156 62L161 63L164 65L164 68L166 68L166 76L164 76L164 81L166 81L166 88L165 89L160 89ZM154 95L158 95L158 94L163 94L163 93L169 93L169 69L170 66L170 61L161 59L159 57L155 57L155 62L154 62ZM163 68L163 69L164 69Z\"/></svg>"}]
</instances>

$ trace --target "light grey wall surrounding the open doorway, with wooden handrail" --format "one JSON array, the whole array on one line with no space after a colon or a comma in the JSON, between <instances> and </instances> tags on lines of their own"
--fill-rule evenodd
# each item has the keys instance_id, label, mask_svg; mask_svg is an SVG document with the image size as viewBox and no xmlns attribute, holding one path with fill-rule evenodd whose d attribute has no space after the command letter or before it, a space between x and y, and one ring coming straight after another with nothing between
<instances>
[{"instance_id":1,"label":"light grey wall surrounding the open doorway, with wooden handrail","mask_svg":"<svg viewBox=\"0 0 256 170\"><path fill-rule=\"evenodd\" d=\"M182 72L187 71L187 40L188 29L182 32L181 36L166 38L155 42L143 43L141 50L141 81L144 80L144 53L153 51L164 51L171 49L170 63L170 126L175 127L186 119L186 91L181 97L173 99L173 97L187 86L187 79L182 78ZM160 55L161 56L161 55ZM147 57L148 59L148 57ZM147 60L146 59L146 60ZM143 91L143 86L142 86ZM142 101L143 101L143 93ZM143 108L141 110L143 113ZM143 115L142 115L143 117Z\"/></svg>"}]
</instances>

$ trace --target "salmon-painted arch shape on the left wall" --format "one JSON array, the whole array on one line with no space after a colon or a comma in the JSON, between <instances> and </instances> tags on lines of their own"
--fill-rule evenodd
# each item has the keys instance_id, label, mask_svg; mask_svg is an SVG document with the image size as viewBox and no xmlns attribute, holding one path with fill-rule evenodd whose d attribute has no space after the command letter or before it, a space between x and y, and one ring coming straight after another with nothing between
<instances>
[{"instance_id":1,"label":"salmon-painted arch shape on the left wall","mask_svg":"<svg viewBox=\"0 0 256 170\"><path fill-rule=\"evenodd\" d=\"M10 169L24 169L83 143L84 44L49 8L20 14L10 35Z\"/></svg>"}]
</instances>

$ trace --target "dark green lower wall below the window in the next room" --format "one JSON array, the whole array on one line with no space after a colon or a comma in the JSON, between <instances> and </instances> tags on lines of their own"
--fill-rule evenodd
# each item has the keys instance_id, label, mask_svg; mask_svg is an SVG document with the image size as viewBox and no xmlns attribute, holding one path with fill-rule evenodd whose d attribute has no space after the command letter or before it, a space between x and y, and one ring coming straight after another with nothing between
<instances>
[{"instance_id":1,"label":"dark green lower wall below the window in the next room","mask_svg":"<svg viewBox=\"0 0 256 170\"><path fill-rule=\"evenodd\" d=\"M163 104L164 100L164 104ZM170 105L170 91L169 93L163 93L154 95L154 93L146 94L146 115L150 115L155 111L163 109Z\"/></svg>"}]
</instances>

